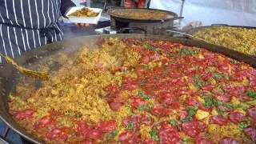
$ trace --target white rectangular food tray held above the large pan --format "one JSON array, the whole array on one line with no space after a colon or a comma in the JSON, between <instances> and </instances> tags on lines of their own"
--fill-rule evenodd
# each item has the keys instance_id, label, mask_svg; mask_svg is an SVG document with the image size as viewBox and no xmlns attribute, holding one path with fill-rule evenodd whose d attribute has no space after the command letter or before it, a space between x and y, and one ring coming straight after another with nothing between
<instances>
[{"instance_id":1,"label":"white rectangular food tray held above the large pan","mask_svg":"<svg viewBox=\"0 0 256 144\"><path fill-rule=\"evenodd\" d=\"M99 18L101 18L102 9L87 7L89 10L94 10L95 13L98 13L97 17L74 17L74 16L69 16L70 14L74 13L76 10L81 10L82 8L84 8L84 7L72 7L70 9L70 11L66 14L66 17L69 18L70 22L74 22L74 23L97 24Z\"/></svg>"}]
</instances>

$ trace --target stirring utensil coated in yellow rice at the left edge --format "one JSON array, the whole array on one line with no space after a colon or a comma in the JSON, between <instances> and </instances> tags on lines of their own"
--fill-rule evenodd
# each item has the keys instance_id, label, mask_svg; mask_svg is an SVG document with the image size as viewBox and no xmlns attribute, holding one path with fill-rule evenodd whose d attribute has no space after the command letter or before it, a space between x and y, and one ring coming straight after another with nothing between
<instances>
[{"instance_id":1,"label":"stirring utensil coated in yellow rice at the left edge","mask_svg":"<svg viewBox=\"0 0 256 144\"><path fill-rule=\"evenodd\" d=\"M6 59L6 62L11 63L13 66L15 66L20 72L22 72L22 74L26 75L27 77L30 78L40 78L42 80L49 80L50 79L50 75L44 72L38 72L38 71L33 71L33 70L28 70L22 66L18 66L18 64L16 62L14 62L14 60L12 58L9 58L7 56L3 56L2 54L0 54L0 56L2 56L3 58Z\"/></svg>"}]
</instances>

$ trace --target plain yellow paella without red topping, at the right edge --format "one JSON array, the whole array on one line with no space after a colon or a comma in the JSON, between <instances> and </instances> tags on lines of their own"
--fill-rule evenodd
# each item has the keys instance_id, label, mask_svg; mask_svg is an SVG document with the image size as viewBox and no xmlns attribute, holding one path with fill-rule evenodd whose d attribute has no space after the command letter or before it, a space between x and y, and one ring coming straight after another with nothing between
<instances>
[{"instance_id":1,"label":"plain yellow paella without red topping, at the right edge","mask_svg":"<svg viewBox=\"0 0 256 144\"><path fill-rule=\"evenodd\" d=\"M242 27L214 26L194 33L207 42L237 50L243 54L256 55L255 29Z\"/></svg>"}]
</instances>

